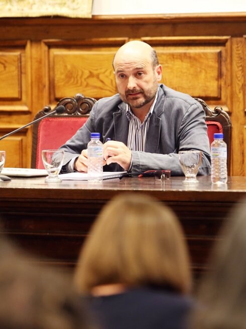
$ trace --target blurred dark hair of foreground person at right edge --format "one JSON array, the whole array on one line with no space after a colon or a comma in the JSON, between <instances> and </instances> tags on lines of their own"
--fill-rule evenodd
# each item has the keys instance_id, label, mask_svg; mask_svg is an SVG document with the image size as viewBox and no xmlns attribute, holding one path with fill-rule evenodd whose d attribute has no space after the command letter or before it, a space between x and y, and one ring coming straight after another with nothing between
<instances>
[{"instance_id":1,"label":"blurred dark hair of foreground person at right edge","mask_svg":"<svg viewBox=\"0 0 246 329\"><path fill-rule=\"evenodd\" d=\"M198 291L192 329L246 328L246 199L222 227Z\"/></svg>"}]
</instances>

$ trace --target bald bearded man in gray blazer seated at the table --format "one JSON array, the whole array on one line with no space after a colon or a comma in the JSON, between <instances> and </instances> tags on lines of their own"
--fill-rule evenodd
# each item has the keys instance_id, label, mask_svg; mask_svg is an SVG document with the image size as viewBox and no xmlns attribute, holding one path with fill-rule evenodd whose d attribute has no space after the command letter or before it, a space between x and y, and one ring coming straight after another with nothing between
<instances>
[{"instance_id":1,"label":"bald bearded man in gray blazer seated at the table","mask_svg":"<svg viewBox=\"0 0 246 329\"><path fill-rule=\"evenodd\" d=\"M113 68L118 94L98 100L86 123L60 147L62 173L87 172L87 143L91 132L99 132L104 171L171 169L183 175L178 152L194 149L202 151L198 174L209 175L205 112L191 96L159 84L162 66L155 50L128 42L116 52Z\"/></svg>"}]
</instances>

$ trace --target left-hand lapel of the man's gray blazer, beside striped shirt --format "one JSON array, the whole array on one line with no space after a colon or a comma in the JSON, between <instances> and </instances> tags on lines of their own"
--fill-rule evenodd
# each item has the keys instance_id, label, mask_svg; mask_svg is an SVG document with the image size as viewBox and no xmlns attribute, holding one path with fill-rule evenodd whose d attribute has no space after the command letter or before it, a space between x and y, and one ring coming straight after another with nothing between
<instances>
[{"instance_id":1,"label":"left-hand lapel of the man's gray blazer, beside striped shirt","mask_svg":"<svg viewBox=\"0 0 246 329\"><path fill-rule=\"evenodd\" d=\"M126 115L126 104L119 105L121 111L113 113L115 140L128 144L129 120Z\"/></svg>"}]
</instances>

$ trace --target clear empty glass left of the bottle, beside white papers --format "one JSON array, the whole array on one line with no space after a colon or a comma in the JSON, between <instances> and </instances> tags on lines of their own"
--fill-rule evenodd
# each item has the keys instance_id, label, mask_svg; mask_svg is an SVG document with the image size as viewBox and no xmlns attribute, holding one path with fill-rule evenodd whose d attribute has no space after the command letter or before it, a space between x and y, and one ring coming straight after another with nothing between
<instances>
[{"instance_id":1,"label":"clear empty glass left of the bottle, beside white papers","mask_svg":"<svg viewBox=\"0 0 246 329\"><path fill-rule=\"evenodd\" d=\"M45 179L47 183L58 183L62 180L58 177L62 168L64 151L60 149L42 150L42 160L48 176Z\"/></svg>"}]
</instances>

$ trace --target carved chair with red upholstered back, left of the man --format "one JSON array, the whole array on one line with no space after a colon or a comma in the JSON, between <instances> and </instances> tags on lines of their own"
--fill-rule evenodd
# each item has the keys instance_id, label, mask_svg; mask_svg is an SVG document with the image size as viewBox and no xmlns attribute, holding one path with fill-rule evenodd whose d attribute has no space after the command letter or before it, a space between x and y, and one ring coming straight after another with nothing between
<instances>
[{"instance_id":1,"label":"carved chair with red upholstered back, left of the man","mask_svg":"<svg viewBox=\"0 0 246 329\"><path fill-rule=\"evenodd\" d=\"M57 149L72 137L89 117L95 102L94 98L84 97L82 94L64 97L57 103L57 106L65 107L64 113L52 114L33 125L32 168L44 168L41 151ZM50 106L45 106L34 119L41 118L50 112Z\"/></svg>"}]
</instances>

